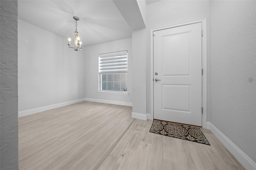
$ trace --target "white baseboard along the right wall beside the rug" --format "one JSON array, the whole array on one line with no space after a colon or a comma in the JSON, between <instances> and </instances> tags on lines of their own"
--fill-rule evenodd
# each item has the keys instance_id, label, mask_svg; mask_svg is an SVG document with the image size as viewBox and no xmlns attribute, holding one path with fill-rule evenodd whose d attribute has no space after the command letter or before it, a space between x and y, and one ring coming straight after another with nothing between
<instances>
[{"instance_id":1,"label":"white baseboard along the right wall beside the rug","mask_svg":"<svg viewBox=\"0 0 256 170\"><path fill-rule=\"evenodd\" d=\"M247 156L240 148L238 148L226 135L224 135L212 123L207 122L206 127L228 148L234 157L244 166L246 170L256 170L256 163Z\"/></svg>"}]
</instances>

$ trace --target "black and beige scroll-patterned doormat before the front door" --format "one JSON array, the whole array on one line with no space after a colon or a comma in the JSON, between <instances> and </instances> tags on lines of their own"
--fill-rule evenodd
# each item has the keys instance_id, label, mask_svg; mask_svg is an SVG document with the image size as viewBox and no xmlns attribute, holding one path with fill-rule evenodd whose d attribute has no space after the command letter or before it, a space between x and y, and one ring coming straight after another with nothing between
<instances>
[{"instance_id":1,"label":"black and beige scroll-patterned doormat before the front door","mask_svg":"<svg viewBox=\"0 0 256 170\"><path fill-rule=\"evenodd\" d=\"M154 120L149 131L156 134L210 145L199 127Z\"/></svg>"}]
</instances>

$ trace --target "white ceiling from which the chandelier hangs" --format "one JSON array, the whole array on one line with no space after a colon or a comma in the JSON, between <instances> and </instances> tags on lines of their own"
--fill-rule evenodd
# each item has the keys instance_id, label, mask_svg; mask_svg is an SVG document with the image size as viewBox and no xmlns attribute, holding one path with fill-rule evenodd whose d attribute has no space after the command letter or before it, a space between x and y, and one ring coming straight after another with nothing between
<instances>
[{"instance_id":1,"label":"white ceiling from which the chandelier hangs","mask_svg":"<svg viewBox=\"0 0 256 170\"><path fill-rule=\"evenodd\" d=\"M112 0L18 0L18 18L74 40L78 16L78 35L82 45L93 45L130 38L132 32Z\"/></svg>"}]
</instances>

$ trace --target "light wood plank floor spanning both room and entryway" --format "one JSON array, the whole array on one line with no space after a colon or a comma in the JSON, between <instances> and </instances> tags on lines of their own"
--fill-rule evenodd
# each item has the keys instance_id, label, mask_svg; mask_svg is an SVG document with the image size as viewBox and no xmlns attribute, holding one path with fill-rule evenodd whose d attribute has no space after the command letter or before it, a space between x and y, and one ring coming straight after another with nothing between
<instances>
[{"instance_id":1,"label":"light wood plank floor spanning both room and entryway","mask_svg":"<svg viewBox=\"0 0 256 170\"><path fill-rule=\"evenodd\" d=\"M132 107L82 102L19 118L20 170L244 170L210 130L211 146L149 132Z\"/></svg>"}]
</instances>

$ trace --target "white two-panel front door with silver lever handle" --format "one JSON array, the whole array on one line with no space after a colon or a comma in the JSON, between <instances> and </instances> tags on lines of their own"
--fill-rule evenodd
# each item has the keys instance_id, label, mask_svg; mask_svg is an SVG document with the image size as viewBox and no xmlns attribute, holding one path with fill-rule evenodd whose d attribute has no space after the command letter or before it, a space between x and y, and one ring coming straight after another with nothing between
<instances>
[{"instance_id":1,"label":"white two-panel front door with silver lever handle","mask_svg":"<svg viewBox=\"0 0 256 170\"><path fill-rule=\"evenodd\" d=\"M201 23L154 31L154 119L202 126Z\"/></svg>"}]
</instances>

